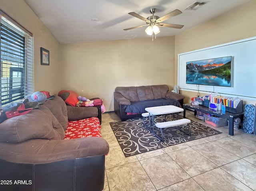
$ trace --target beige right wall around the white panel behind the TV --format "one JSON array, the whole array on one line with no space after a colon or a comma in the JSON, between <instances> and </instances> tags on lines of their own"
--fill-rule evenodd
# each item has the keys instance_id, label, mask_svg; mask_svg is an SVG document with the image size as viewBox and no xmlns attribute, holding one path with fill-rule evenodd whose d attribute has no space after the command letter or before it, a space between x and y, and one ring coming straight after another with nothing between
<instances>
[{"instance_id":1,"label":"beige right wall around the white panel behind the TV","mask_svg":"<svg viewBox=\"0 0 256 191\"><path fill-rule=\"evenodd\" d=\"M256 0L175 36L175 83L178 83L178 54L256 36ZM196 92L180 91L185 102ZM201 94L204 95L204 94ZM243 104L256 101L244 100Z\"/></svg>"}]
</instances>

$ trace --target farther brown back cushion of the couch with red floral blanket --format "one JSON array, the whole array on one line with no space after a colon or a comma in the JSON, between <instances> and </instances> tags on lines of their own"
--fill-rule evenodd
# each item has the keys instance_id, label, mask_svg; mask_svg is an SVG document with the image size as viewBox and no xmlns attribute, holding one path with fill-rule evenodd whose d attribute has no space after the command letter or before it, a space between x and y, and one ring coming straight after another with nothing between
<instances>
[{"instance_id":1,"label":"farther brown back cushion of the couch with red floral blanket","mask_svg":"<svg viewBox=\"0 0 256 191\"><path fill-rule=\"evenodd\" d=\"M46 100L43 105L48 107L62 125L62 128L66 130L68 125L68 112L64 100L59 96L55 96L53 99Z\"/></svg>"}]
</instances>

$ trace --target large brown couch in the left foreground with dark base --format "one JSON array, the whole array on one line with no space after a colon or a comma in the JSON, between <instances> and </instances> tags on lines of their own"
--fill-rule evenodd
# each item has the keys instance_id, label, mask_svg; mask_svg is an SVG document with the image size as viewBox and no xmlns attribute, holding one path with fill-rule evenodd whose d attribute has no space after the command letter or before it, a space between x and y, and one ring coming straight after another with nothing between
<instances>
[{"instance_id":1,"label":"large brown couch in the left foreground with dark base","mask_svg":"<svg viewBox=\"0 0 256 191\"><path fill-rule=\"evenodd\" d=\"M66 106L59 96L0 124L0 185L4 191L100 191L103 138L63 140L68 120L97 117L96 107Z\"/></svg>"}]
</instances>

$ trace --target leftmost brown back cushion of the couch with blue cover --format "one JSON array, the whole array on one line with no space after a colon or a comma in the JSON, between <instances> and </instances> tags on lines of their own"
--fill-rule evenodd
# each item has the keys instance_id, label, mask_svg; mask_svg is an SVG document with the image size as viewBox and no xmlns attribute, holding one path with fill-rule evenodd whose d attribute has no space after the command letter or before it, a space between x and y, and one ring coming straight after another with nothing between
<instances>
[{"instance_id":1,"label":"leftmost brown back cushion of the couch with blue cover","mask_svg":"<svg viewBox=\"0 0 256 191\"><path fill-rule=\"evenodd\" d=\"M116 87L115 92L120 93L130 101L139 101L137 87Z\"/></svg>"}]
</instances>

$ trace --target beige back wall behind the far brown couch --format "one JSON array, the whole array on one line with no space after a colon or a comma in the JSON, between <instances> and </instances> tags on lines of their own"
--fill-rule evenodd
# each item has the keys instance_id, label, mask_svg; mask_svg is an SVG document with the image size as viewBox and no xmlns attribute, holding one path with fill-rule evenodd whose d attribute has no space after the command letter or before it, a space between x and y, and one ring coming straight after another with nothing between
<instances>
[{"instance_id":1,"label":"beige back wall behind the far brown couch","mask_svg":"<svg viewBox=\"0 0 256 191\"><path fill-rule=\"evenodd\" d=\"M100 97L113 111L118 86L174 85L174 36L60 45L61 88Z\"/></svg>"}]
</instances>

